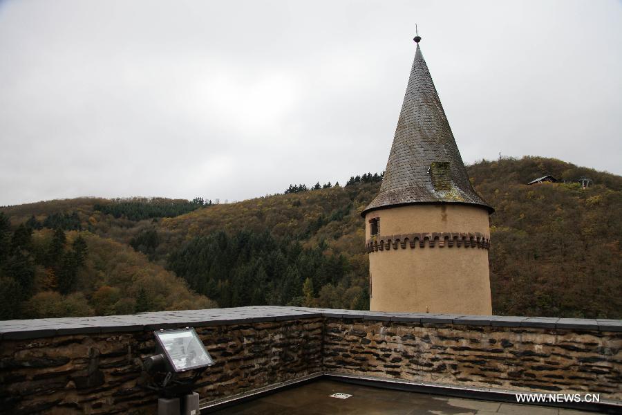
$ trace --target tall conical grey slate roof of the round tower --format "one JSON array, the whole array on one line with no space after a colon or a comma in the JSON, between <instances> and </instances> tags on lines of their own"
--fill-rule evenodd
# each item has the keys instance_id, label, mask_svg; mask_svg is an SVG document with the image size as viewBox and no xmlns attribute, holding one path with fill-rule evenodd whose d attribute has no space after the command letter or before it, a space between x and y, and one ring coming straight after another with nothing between
<instances>
[{"instance_id":1,"label":"tall conical grey slate roof of the round tower","mask_svg":"<svg viewBox=\"0 0 622 415\"><path fill-rule=\"evenodd\" d=\"M378 196L362 212L413 203L493 208L469 181L419 42Z\"/></svg>"}]
</instances>

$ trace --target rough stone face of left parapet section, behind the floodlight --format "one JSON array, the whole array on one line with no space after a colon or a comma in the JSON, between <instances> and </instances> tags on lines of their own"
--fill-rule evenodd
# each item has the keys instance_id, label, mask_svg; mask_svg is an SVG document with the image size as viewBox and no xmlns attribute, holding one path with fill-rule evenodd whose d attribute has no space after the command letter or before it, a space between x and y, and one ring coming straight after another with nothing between
<instances>
[{"instance_id":1,"label":"rough stone face of left parapet section, behind the floodlight","mask_svg":"<svg viewBox=\"0 0 622 415\"><path fill-rule=\"evenodd\" d=\"M214 400L321 371L321 318L195 327L215 360L196 391ZM1 413L154 414L142 359L153 331L4 340Z\"/></svg>"}]
</instances>

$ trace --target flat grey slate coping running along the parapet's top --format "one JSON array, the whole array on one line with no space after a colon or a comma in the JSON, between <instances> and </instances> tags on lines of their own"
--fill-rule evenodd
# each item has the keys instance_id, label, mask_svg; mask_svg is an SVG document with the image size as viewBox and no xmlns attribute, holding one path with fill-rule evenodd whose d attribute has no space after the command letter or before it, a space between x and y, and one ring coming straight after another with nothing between
<instances>
[{"instance_id":1,"label":"flat grey slate coping running along the parapet's top","mask_svg":"<svg viewBox=\"0 0 622 415\"><path fill-rule=\"evenodd\" d=\"M433 313L387 313L290 306L247 306L205 310L156 311L102 317L41 318L0 321L0 340L25 340L55 335L155 331L182 327L220 326L276 322L307 318L343 318L420 324L466 324L473 326L531 327L587 331L622 331L622 320L504 315L459 315Z\"/></svg>"}]
</instances>

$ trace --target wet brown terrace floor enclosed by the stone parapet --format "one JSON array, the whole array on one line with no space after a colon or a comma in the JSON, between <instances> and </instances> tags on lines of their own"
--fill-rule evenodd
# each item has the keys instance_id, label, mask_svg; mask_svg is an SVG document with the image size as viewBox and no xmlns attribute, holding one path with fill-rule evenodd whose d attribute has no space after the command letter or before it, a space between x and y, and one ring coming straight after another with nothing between
<instances>
[{"instance_id":1,"label":"wet brown terrace floor enclosed by the stone parapet","mask_svg":"<svg viewBox=\"0 0 622 415\"><path fill-rule=\"evenodd\" d=\"M341 393L349 398L332 398ZM490 400L452 398L410 391L354 385L335 380L312 380L225 409L205 411L216 415L580 415L574 409L499 403Z\"/></svg>"}]
</instances>

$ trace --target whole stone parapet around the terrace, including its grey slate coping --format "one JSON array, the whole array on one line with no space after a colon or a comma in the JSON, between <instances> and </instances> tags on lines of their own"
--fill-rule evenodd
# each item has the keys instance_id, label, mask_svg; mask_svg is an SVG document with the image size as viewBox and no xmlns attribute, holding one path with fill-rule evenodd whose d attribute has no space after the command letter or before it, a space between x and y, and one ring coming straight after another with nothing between
<instances>
[{"instance_id":1,"label":"whole stone parapet around the terrace, including its grey slate coping","mask_svg":"<svg viewBox=\"0 0 622 415\"><path fill-rule=\"evenodd\" d=\"M257 306L0 322L0 412L154 413L141 362L185 326L216 361L203 403L321 374L622 401L621 321Z\"/></svg>"}]
</instances>

